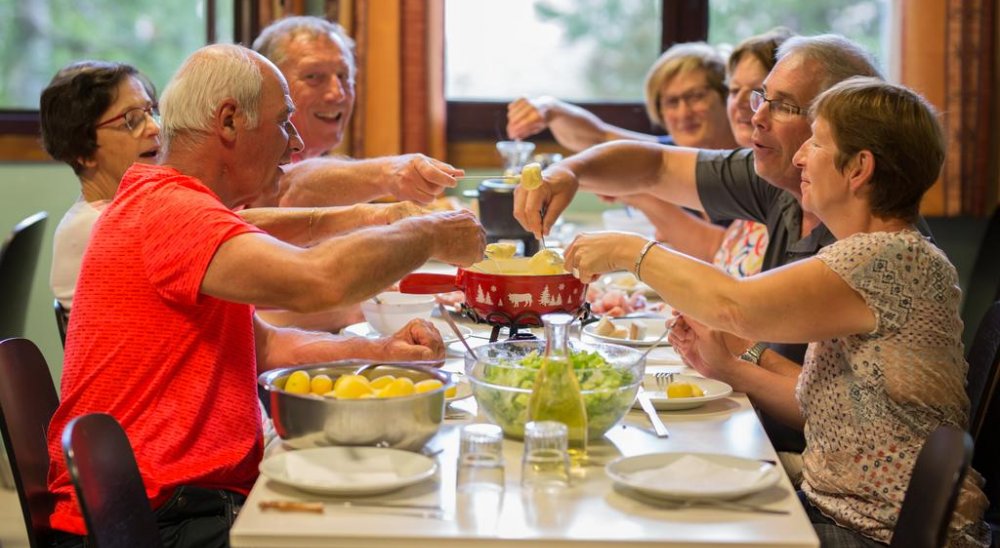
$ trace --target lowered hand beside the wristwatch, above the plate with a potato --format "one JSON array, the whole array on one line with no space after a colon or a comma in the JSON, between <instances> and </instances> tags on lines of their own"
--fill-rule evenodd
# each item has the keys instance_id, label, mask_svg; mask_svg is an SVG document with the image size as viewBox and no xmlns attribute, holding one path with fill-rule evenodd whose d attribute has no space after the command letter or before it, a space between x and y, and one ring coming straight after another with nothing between
<instances>
[{"instance_id":1,"label":"lowered hand beside the wristwatch, above the plate with a potato","mask_svg":"<svg viewBox=\"0 0 1000 548\"><path fill-rule=\"evenodd\" d=\"M726 344L727 336L723 331L681 314L674 318L667 340L689 367L706 377L733 385L733 371L741 367L742 362Z\"/></svg>"}]
</instances>

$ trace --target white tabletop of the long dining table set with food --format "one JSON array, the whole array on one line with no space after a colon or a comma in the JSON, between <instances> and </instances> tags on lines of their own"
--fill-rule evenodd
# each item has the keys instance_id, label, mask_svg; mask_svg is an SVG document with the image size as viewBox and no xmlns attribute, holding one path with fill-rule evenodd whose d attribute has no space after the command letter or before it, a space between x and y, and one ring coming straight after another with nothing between
<instances>
[{"instance_id":1,"label":"white tabletop of the long dining table set with food","mask_svg":"<svg viewBox=\"0 0 1000 548\"><path fill-rule=\"evenodd\" d=\"M430 271L447 271L438 265ZM463 317L456 321L483 344L490 326ZM581 330L582 331L582 330ZM453 336L443 333L446 339ZM577 337L596 342L585 331ZM464 349L449 345L443 369L461 373ZM697 375L669 347L648 356L646 375ZM503 441L504 485L494 504L470 504L456 490L459 432L488 422L475 398L446 404L438 433L422 452L437 470L429 479L399 490L368 496L332 496L300 491L261 475L230 533L241 547L440 547L471 546L819 546L788 477L737 501L677 501L649 497L616 484L605 465L620 457L653 453L722 454L778 463L756 411L744 394L709 401L687 410L659 411L669 435L658 437L641 409L598 440L590 440L587 462L572 470L568 487L522 490L524 445ZM391 417L386 417L391 420ZM265 456L291 451L280 438ZM309 511L287 511L305 505ZM286 510L277 509L286 505ZM424 509L424 510L421 510ZM433 509L433 511L426 511Z\"/></svg>"}]
</instances>

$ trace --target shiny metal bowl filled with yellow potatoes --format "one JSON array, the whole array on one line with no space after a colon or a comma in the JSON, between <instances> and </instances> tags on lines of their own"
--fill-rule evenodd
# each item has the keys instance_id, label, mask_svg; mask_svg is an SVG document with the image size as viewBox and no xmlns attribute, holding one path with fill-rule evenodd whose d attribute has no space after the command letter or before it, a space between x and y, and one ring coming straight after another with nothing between
<instances>
[{"instance_id":1,"label":"shiny metal bowl filled with yellow potatoes","mask_svg":"<svg viewBox=\"0 0 1000 548\"><path fill-rule=\"evenodd\" d=\"M440 363L440 362L438 362ZM267 391L271 404L271 419L281 439L293 449L333 445L392 447L407 451L420 449L434 437L444 419L445 390L451 377L429 362L379 363L349 360L325 364L272 369L262 373L257 382ZM409 379L412 385L426 382L426 391L412 395L385 396L385 389L358 396L363 380L345 379L341 392L353 392L348 398L337 398L334 391L297 393L286 390L300 384L302 373L290 385L297 372L309 374L311 381L326 376L336 384L341 376L359 375L369 382L393 376ZM351 381L351 382L348 382ZM385 379L382 379L383 381ZM316 384L328 384L326 380ZM408 381L407 381L408 382ZM398 381L398 385L407 384ZM345 388L346 387L346 388ZM323 390L323 386L320 390ZM324 395L326 394L326 395Z\"/></svg>"}]
</instances>

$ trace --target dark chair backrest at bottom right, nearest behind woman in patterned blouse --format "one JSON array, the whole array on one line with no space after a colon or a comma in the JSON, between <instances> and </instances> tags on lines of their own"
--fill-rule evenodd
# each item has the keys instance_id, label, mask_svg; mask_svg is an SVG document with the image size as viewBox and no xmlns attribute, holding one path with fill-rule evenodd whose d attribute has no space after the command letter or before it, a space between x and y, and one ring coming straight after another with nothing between
<instances>
[{"instance_id":1,"label":"dark chair backrest at bottom right, nearest behind woman in patterned blouse","mask_svg":"<svg viewBox=\"0 0 1000 548\"><path fill-rule=\"evenodd\" d=\"M931 433L917 455L890 546L945 545L948 522L971 461L972 437L968 432L942 425Z\"/></svg>"}]
</instances>

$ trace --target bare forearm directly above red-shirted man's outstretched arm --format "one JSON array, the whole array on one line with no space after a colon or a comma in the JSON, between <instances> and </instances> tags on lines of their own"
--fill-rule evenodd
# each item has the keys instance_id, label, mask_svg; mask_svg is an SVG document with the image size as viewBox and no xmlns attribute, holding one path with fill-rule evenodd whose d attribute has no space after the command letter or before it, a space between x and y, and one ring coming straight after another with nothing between
<instances>
[{"instance_id":1,"label":"bare forearm directly above red-shirted man's outstretched arm","mask_svg":"<svg viewBox=\"0 0 1000 548\"><path fill-rule=\"evenodd\" d=\"M247 222L284 242L309 246L365 226L387 224L384 206L257 207L240 212Z\"/></svg>"}]
</instances>

